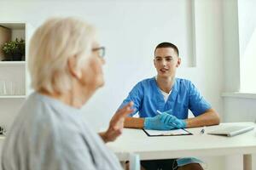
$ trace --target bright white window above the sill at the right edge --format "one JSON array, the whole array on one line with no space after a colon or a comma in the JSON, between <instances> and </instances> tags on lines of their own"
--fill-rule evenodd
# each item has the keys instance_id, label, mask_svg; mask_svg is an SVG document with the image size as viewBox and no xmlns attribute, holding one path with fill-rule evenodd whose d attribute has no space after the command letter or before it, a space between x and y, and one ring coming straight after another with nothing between
<instances>
[{"instance_id":1,"label":"bright white window above the sill at the right edge","mask_svg":"<svg viewBox=\"0 0 256 170\"><path fill-rule=\"evenodd\" d=\"M241 92L256 93L256 1L239 0L239 44L241 63Z\"/></svg>"}]
</instances>

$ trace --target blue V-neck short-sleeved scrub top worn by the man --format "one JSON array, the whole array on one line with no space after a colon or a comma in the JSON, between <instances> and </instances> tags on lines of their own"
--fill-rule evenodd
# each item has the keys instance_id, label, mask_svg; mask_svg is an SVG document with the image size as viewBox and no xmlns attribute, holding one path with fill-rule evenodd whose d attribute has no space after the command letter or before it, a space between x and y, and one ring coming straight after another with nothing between
<instances>
[{"instance_id":1,"label":"blue V-neck short-sleeved scrub top worn by the man","mask_svg":"<svg viewBox=\"0 0 256 170\"><path fill-rule=\"evenodd\" d=\"M199 116L211 109L211 105L201 96L195 85L189 80L181 78L175 79L172 93L166 102L154 77L138 82L119 108L130 101L134 102L135 110L130 116L138 112L140 117L156 116L157 110L172 110L173 116L187 119L189 110L194 116Z\"/></svg>"}]
</instances>

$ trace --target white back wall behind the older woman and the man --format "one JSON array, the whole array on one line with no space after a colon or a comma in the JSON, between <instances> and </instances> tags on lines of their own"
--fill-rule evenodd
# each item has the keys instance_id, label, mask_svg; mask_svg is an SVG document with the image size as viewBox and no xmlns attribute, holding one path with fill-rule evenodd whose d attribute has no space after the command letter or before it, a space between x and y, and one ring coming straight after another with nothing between
<instances>
[{"instance_id":1,"label":"white back wall behind the older woman and the man","mask_svg":"<svg viewBox=\"0 0 256 170\"><path fill-rule=\"evenodd\" d=\"M27 21L37 27L52 15L76 15L97 26L101 42L107 47L106 84L84 107L84 117L96 129L108 126L110 117L138 81L155 75L154 46L161 41L177 43L183 59L177 77L195 82L201 94L223 116L220 97L224 89L223 3L195 0L195 67L189 67L194 59L189 46L193 40L192 28L187 26L191 20L187 17L189 7L184 3L185 0L2 1L0 20ZM0 102L5 110L1 111L2 123L10 124L15 116L14 105ZM210 162L208 169L224 169L223 157L204 159Z\"/></svg>"}]
</instances>

